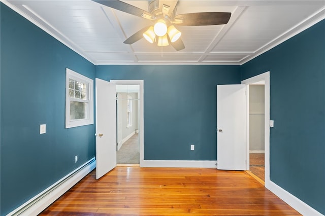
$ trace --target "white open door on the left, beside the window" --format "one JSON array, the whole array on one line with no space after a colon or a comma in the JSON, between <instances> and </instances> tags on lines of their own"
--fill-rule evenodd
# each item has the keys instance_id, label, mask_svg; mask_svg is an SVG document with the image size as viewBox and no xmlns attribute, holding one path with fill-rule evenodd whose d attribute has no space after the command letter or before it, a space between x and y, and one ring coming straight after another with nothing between
<instances>
[{"instance_id":1,"label":"white open door on the left, beside the window","mask_svg":"<svg viewBox=\"0 0 325 216\"><path fill-rule=\"evenodd\" d=\"M115 84L96 78L96 179L116 166Z\"/></svg>"}]
</instances>

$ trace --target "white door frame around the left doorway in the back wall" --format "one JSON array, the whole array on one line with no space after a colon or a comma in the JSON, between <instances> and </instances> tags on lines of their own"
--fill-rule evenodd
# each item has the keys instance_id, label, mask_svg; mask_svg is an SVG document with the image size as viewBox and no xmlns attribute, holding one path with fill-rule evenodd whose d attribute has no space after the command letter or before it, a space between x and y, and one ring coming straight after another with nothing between
<instances>
[{"instance_id":1,"label":"white door frame around the left doorway in the back wall","mask_svg":"<svg viewBox=\"0 0 325 216\"><path fill-rule=\"evenodd\" d=\"M143 80L110 80L116 85L139 85L139 145L140 145L140 167L144 163L144 109L143 109ZM117 129L117 128L116 128Z\"/></svg>"}]
</instances>

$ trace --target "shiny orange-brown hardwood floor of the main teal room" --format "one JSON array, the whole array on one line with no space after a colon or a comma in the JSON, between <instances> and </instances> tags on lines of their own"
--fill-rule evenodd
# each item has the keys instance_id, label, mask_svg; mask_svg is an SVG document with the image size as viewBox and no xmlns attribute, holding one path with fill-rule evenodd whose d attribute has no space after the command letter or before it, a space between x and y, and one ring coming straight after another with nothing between
<instances>
[{"instance_id":1,"label":"shiny orange-brown hardwood floor of the main teal room","mask_svg":"<svg viewBox=\"0 0 325 216\"><path fill-rule=\"evenodd\" d=\"M40 215L300 215L245 171L116 167L90 172Z\"/></svg>"}]
</instances>

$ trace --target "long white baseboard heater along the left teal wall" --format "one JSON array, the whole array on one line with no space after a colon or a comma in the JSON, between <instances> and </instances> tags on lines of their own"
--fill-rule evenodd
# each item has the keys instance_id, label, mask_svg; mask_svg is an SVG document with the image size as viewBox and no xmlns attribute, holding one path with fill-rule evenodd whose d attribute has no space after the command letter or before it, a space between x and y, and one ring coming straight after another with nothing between
<instances>
[{"instance_id":1,"label":"long white baseboard heater along the left teal wall","mask_svg":"<svg viewBox=\"0 0 325 216\"><path fill-rule=\"evenodd\" d=\"M41 213L95 167L96 160L92 158L7 215L37 215Z\"/></svg>"}]
</instances>

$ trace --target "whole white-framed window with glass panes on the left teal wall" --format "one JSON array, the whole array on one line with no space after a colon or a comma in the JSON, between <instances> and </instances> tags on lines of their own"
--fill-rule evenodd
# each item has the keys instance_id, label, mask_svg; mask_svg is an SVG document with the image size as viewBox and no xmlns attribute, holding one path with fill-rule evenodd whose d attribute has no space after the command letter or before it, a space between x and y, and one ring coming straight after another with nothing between
<instances>
[{"instance_id":1,"label":"whole white-framed window with glass panes on the left teal wall","mask_svg":"<svg viewBox=\"0 0 325 216\"><path fill-rule=\"evenodd\" d=\"M93 80L66 70L66 128L93 124Z\"/></svg>"}]
</instances>

